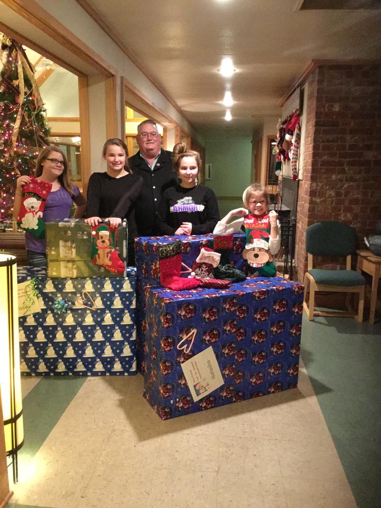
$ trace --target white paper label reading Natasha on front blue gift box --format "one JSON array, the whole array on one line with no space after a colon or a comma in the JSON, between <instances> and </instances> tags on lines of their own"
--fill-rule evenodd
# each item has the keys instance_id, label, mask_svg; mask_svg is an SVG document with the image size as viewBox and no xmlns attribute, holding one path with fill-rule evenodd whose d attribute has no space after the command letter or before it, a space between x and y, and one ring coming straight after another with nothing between
<instances>
[{"instance_id":1,"label":"white paper label reading Natasha on front blue gift box","mask_svg":"<svg viewBox=\"0 0 381 508\"><path fill-rule=\"evenodd\" d=\"M195 402L224 384L211 346L182 363L181 368Z\"/></svg>"}]
</instances>

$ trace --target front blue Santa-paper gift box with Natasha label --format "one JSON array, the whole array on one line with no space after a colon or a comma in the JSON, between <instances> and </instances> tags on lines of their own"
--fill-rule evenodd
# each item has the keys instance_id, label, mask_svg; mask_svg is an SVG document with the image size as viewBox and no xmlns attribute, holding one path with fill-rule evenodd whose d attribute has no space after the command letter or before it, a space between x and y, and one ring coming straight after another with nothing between
<instances>
[{"instance_id":1,"label":"front blue Santa-paper gift box with Natasha label","mask_svg":"<svg viewBox=\"0 0 381 508\"><path fill-rule=\"evenodd\" d=\"M163 420L297 386L301 284L252 277L224 290L150 289L146 307L144 396ZM224 384L195 402L181 364L210 346Z\"/></svg>"}]
</instances>

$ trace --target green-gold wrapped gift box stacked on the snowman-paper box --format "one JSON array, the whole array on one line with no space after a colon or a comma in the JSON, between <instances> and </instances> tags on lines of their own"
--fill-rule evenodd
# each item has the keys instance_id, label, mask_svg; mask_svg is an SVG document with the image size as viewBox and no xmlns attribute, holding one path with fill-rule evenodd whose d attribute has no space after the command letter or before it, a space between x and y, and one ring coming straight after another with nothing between
<instances>
[{"instance_id":1,"label":"green-gold wrapped gift box stacked on the snowman-paper box","mask_svg":"<svg viewBox=\"0 0 381 508\"><path fill-rule=\"evenodd\" d=\"M125 270L114 273L91 261L91 226L83 219L55 219L45 223L45 228L48 277L125 277ZM127 224L123 220L117 229L116 252L124 266L128 263L127 239Z\"/></svg>"}]
</instances>

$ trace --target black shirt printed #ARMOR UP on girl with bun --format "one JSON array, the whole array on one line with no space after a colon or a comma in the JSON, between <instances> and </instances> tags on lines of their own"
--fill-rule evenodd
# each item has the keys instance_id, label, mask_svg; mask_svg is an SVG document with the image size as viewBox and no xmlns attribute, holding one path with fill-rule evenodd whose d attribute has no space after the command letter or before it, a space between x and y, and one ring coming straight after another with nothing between
<instances>
[{"instance_id":1,"label":"black shirt printed #ARMOR UP on girl with bun","mask_svg":"<svg viewBox=\"0 0 381 508\"><path fill-rule=\"evenodd\" d=\"M157 214L162 235L173 235L183 222L192 223L193 235L211 233L219 220L214 192L205 185L185 188L175 185L165 190Z\"/></svg>"}]
</instances>

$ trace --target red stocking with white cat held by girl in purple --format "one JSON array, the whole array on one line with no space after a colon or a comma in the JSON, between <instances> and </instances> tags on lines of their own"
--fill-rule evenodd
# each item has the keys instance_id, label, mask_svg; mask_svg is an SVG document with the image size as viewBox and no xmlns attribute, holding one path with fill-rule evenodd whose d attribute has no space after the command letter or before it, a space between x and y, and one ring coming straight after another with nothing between
<instances>
[{"instance_id":1,"label":"red stocking with white cat held by girl in purple","mask_svg":"<svg viewBox=\"0 0 381 508\"><path fill-rule=\"evenodd\" d=\"M33 176L30 177L30 183L22 187L22 200L17 224L37 238L45 236L45 224L42 216L51 189L51 183L38 180Z\"/></svg>"}]
</instances>

